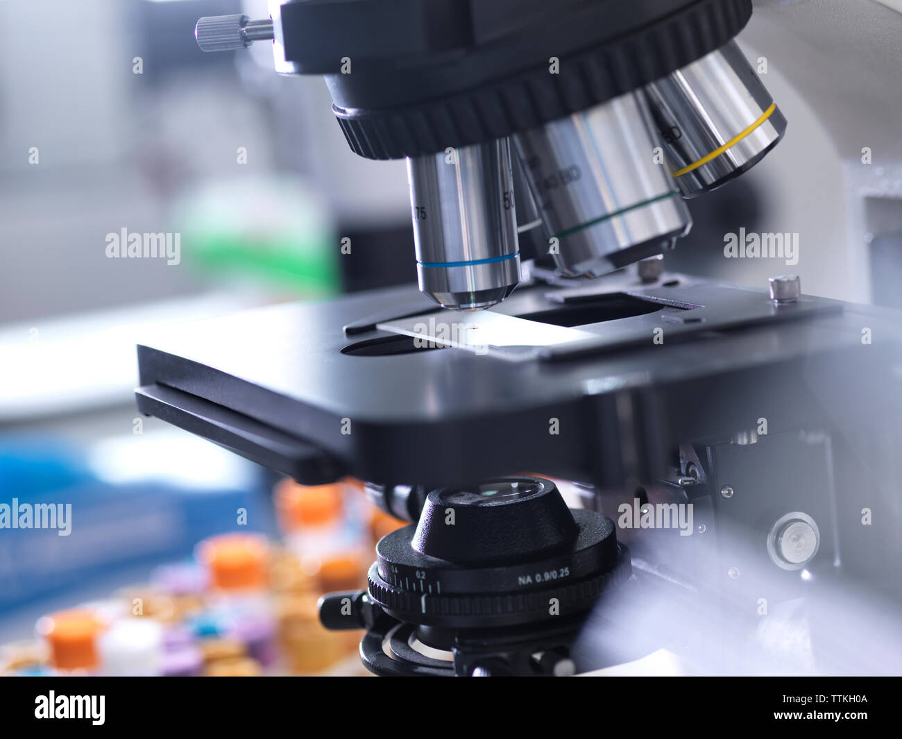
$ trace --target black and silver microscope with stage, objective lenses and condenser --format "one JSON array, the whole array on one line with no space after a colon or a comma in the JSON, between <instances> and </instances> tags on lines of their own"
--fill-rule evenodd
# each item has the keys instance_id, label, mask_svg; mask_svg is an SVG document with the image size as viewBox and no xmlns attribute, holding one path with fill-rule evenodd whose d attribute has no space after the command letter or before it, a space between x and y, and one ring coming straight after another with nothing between
<instances>
[{"instance_id":1,"label":"black and silver microscope with stage, objective lenses and condenser","mask_svg":"<svg viewBox=\"0 0 902 739\"><path fill-rule=\"evenodd\" d=\"M758 5L902 32L876 0ZM406 160L419 284L176 329L136 398L410 522L322 623L380 675L902 669L898 314L664 271L686 201L787 128L736 42L750 0L269 10L198 45L272 43L354 153Z\"/></svg>"}]
</instances>

